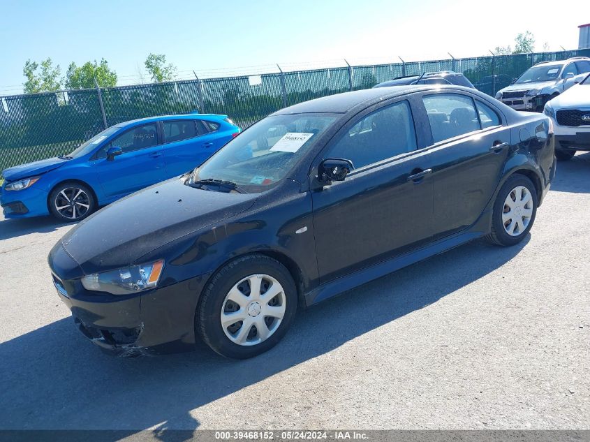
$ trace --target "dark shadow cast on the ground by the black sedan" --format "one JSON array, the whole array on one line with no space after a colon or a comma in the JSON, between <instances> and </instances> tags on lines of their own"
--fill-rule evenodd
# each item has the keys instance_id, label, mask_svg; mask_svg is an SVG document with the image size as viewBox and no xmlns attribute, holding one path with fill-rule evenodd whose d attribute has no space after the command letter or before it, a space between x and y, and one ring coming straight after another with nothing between
<instances>
[{"instance_id":1,"label":"dark shadow cast on the ground by the black sedan","mask_svg":"<svg viewBox=\"0 0 590 442\"><path fill-rule=\"evenodd\" d=\"M437 302L506 264L528 241L471 242L300 311L276 347L250 360L222 358L204 344L192 353L113 358L64 318L0 344L0 429L121 430L115 440L152 428L163 441L189 439L200 426L196 408ZM242 407L230 413L247 415Z\"/></svg>"}]
</instances>

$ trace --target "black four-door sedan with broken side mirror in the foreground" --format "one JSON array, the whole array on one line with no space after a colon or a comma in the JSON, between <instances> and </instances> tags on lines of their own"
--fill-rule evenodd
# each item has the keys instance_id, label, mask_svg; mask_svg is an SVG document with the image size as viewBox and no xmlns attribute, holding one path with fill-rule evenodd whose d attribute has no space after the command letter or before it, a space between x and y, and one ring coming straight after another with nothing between
<instances>
[{"instance_id":1,"label":"black four-door sedan with broken side mirror in the foreground","mask_svg":"<svg viewBox=\"0 0 590 442\"><path fill-rule=\"evenodd\" d=\"M191 173L115 202L49 256L81 332L119 355L274 346L297 307L478 237L528 233L555 175L550 119L474 89L319 98Z\"/></svg>"}]
</instances>

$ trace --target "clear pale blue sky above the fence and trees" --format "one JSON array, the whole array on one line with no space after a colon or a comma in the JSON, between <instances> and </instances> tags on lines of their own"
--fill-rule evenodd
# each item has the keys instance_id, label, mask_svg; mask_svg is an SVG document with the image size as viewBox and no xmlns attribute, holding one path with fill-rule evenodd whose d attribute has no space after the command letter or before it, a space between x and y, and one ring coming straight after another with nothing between
<instances>
[{"instance_id":1,"label":"clear pale blue sky above the fence and trees","mask_svg":"<svg viewBox=\"0 0 590 442\"><path fill-rule=\"evenodd\" d=\"M536 50L577 49L590 1L0 0L0 96L22 91L27 59L105 58L119 84L149 82L147 54L179 80L283 70L475 57L531 31Z\"/></svg>"}]
</instances>

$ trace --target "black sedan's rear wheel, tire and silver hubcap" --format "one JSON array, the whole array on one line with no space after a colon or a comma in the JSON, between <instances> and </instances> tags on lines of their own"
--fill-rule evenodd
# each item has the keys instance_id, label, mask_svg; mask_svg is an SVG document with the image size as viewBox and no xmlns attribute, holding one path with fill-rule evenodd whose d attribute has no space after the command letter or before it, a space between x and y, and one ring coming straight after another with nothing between
<instances>
[{"instance_id":1,"label":"black sedan's rear wheel, tire and silver hubcap","mask_svg":"<svg viewBox=\"0 0 590 442\"><path fill-rule=\"evenodd\" d=\"M518 244L533 227L537 205L533 182L519 173L512 175L498 192L492 213L492 230L486 239L499 246Z\"/></svg>"}]
</instances>

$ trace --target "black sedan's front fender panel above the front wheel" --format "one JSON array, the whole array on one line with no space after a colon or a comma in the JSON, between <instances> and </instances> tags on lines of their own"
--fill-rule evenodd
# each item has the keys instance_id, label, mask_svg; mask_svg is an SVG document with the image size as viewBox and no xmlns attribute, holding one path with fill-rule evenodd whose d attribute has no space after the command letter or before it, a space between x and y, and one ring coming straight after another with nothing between
<instances>
[{"instance_id":1,"label":"black sedan's front fender panel above the front wheel","mask_svg":"<svg viewBox=\"0 0 590 442\"><path fill-rule=\"evenodd\" d=\"M268 253L284 258L287 267L293 264L296 268L289 270L297 270L293 276L308 291L318 280L311 195L291 192L284 196L260 198L246 212L165 244L140 260L164 258L163 283L168 285L216 272L239 256ZM273 205L273 200L280 202Z\"/></svg>"}]
</instances>

